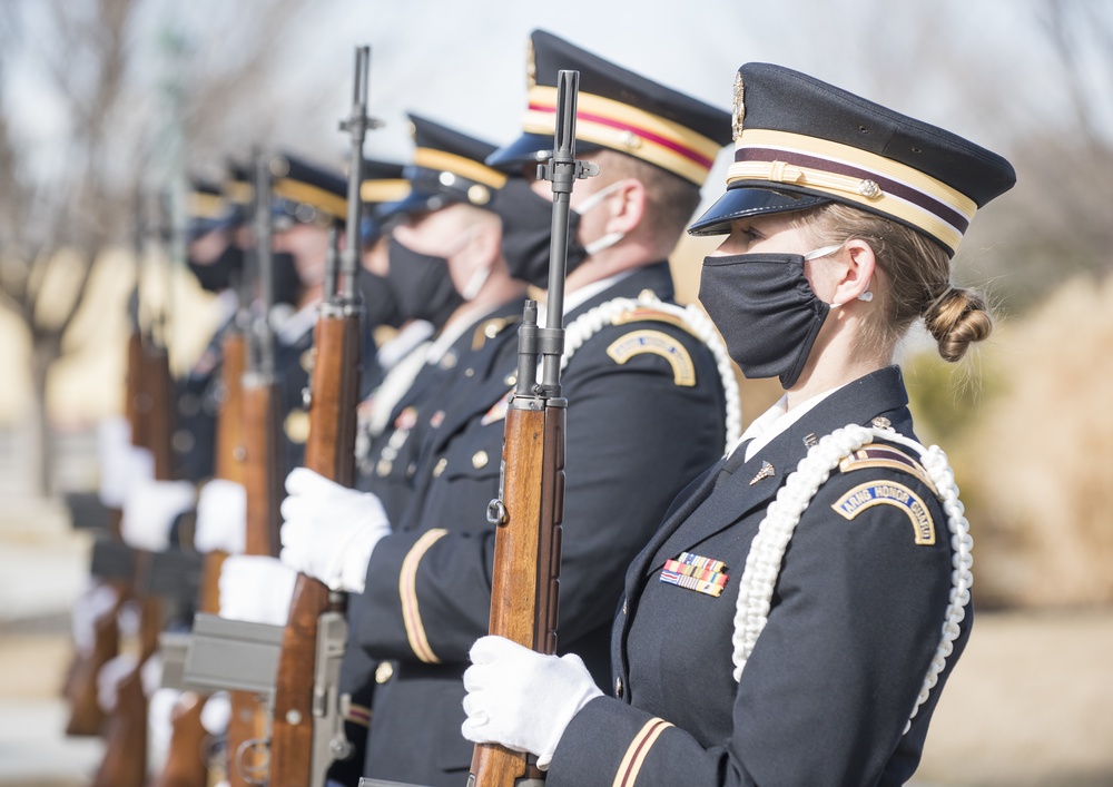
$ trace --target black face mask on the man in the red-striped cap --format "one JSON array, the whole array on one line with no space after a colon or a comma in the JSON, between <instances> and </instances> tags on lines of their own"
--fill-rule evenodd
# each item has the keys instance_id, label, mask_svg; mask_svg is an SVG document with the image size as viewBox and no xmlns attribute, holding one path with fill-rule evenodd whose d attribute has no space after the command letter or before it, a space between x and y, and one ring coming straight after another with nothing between
<instances>
[{"instance_id":1,"label":"black face mask on the man in the red-striped cap","mask_svg":"<svg viewBox=\"0 0 1113 787\"><path fill-rule=\"evenodd\" d=\"M502 253L510 275L536 287L548 287L553 204L535 194L524 178L510 178L499 190L499 215ZM565 275L588 258L588 250L579 242L579 230L580 214L569 210Z\"/></svg>"}]
</instances>

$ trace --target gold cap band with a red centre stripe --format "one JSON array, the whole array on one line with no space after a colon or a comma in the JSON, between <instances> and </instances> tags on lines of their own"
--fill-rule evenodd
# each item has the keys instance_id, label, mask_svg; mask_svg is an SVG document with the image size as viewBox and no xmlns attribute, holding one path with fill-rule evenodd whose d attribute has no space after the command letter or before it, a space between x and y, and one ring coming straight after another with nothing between
<instances>
[{"instance_id":1,"label":"gold cap band with a red centre stripe","mask_svg":"<svg viewBox=\"0 0 1113 787\"><path fill-rule=\"evenodd\" d=\"M556 127L556 88L534 85L522 122L526 134L552 136ZM702 186L721 145L673 120L602 96L577 99L575 137L630 156Z\"/></svg>"}]
</instances>

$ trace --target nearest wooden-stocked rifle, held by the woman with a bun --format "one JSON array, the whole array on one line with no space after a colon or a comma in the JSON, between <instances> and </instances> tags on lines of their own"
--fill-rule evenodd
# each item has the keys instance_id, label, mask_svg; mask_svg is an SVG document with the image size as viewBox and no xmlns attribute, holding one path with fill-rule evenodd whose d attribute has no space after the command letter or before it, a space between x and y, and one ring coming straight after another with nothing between
<instances>
[{"instance_id":1,"label":"nearest wooden-stocked rifle, held by the woman with a bun","mask_svg":"<svg viewBox=\"0 0 1113 787\"><path fill-rule=\"evenodd\" d=\"M564 421L561 396L564 352L564 269L568 262L569 199L577 178L599 169L575 160L575 105L579 71L556 78L553 155L538 168L552 183L552 240L549 248L549 303L545 327L538 305L525 302L518 333L518 383L506 410L499 498L487 506L495 525L490 632L540 653L556 650L561 520L564 509ZM538 382L538 356L541 382ZM472 756L469 787L524 787L543 784L532 756L480 744Z\"/></svg>"}]
</instances>

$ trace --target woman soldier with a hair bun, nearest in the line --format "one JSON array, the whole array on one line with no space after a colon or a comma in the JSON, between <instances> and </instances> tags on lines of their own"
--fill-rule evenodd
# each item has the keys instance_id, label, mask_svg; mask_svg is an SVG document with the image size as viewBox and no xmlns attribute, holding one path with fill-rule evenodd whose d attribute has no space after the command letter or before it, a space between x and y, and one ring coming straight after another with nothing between
<instances>
[{"instance_id":1,"label":"woman soldier with a hair bun, nearest in the line","mask_svg":"<svg viewBox=\"0 0 1113 787\"><path fill-rule=\"evenodd\" d=\"M904 784L969 634L968 524L892 364L920 317L947 361L988 335L951 258L1013 168L766 63L738 72L733 134L691 228L727 236L700 299L786 394L630 564L609 697L571 658L472 649L464 734L552 787Z\"/></svg>"}]
</instances>

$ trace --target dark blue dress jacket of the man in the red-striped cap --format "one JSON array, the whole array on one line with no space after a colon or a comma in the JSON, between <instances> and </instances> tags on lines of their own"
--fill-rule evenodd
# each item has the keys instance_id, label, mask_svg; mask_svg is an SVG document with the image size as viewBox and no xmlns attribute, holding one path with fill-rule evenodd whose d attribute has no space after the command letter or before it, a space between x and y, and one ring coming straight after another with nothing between
<instances>
[{"instance_id":1,"label":"dark blue dress jacket of the man in the red-striped cap","mask_svg":"<svg viewBox=\"0 0 1113 787\"><path fill-rule=\"evenodd\" d=\"M642 268L568 315L652 289L672 297L666 263ZM620 364L607 351L632 331L659 332L690 355L695 384L679 385L651 353ZM485 520L502 456L505 374L461 392L462 405L430 431L418 486L395 532L367 567L352 638L388 660L373 702L365 774L462 785L472 745L460 734L467 651L486 633L494 531ZM681 327L642 319L608 325L571 357L559 649L580 653L609 682L609 639L622 573L676 493L722 453L725 395L710 351Z\"/></svg>"}]
</instances>

